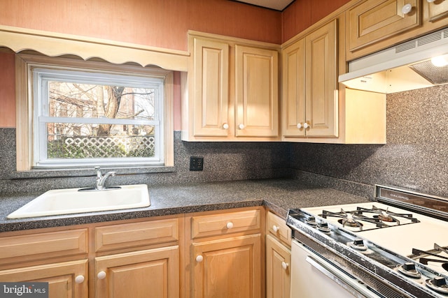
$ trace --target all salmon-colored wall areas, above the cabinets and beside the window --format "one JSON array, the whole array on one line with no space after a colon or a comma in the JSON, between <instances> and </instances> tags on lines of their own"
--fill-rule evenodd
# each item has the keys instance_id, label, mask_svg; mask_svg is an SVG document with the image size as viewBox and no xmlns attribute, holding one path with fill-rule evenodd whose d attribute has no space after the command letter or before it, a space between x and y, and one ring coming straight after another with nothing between
<instances>
[{"instance_id":1,"label":"all salmon-colored wall areas, above the cabinets and beside the window","mask_svg":"<svg viewBox=\"0 0 448 298\"><path fill-rule=\"evenodd\" d=\"M349 0L295 0L283 13L228 0L1 0L0 24L187 50L189 29L283 43ZM0 127L15 127L14 55L0 53ZM179 130L180 78L174 76Z\"/></svg>"}]
</instances>

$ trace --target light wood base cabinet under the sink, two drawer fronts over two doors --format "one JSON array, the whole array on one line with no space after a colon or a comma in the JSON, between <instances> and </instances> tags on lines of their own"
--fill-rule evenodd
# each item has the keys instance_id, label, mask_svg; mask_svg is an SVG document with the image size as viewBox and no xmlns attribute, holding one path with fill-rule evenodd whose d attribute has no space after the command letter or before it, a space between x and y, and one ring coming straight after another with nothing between
<instances>
[{"instance_id":1,"label":"light wood base cabinet under the sink, two drawer fronts over two doors","mask_svg":"<svg viewBox=\"0 0 448 298\"><path fill-rule=\"evenodd\" d=\"M0 233L0 281L48 282L50 298L183 297L179 217Z\"/></svg>"}]
</instances>

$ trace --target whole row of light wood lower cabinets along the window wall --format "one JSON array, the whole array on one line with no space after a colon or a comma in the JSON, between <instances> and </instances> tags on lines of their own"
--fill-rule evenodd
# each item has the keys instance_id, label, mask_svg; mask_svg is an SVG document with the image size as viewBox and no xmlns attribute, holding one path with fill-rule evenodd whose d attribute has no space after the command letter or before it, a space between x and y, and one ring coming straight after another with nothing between
<instances>
[{"instance_id":1,"label":"whole row of light wood lower cabinets along the window wall","mask_svg":"<svg viewBox=\"0 0 448 298\"><path fill-rule=\"evenodd\" d=\"M0 233L0 281L48 282L50 298L261 298L263 231L265 209L247 207Z\"/></svg>"}]
</instances>

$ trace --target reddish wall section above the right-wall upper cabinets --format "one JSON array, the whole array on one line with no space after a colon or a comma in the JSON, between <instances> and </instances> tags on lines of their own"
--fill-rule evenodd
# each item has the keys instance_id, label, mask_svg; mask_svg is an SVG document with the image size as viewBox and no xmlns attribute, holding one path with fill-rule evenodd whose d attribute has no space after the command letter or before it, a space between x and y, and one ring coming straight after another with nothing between
<instances>
[{"instance_id":1,"label":"reddish wall section above the right-wall upper cabinets","mask_svg":"<svg viewBox=\"0 0 448 298\"><path fill-rule=\"evenodd\" d=\"M323 19L351 0L295 0L281 15L281 42Z\"/></svg>"}]
</instances>

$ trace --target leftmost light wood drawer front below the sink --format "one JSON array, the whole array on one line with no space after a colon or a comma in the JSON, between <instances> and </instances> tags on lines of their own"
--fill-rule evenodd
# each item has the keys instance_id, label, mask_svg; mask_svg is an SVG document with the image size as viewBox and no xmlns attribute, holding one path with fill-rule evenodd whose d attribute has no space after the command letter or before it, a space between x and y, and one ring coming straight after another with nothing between
<instances>
[{"instance_id":1,"label":"leftmost light wood drawer front below the sink","mask_svg":"<svg viewBox=\"0 0 448 298\"><path fill-rule=\"evenodd\" d=\"M87 253L87 229L0 238L0 263Z\"/></svg>"}]
</instances>

